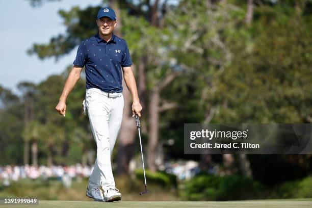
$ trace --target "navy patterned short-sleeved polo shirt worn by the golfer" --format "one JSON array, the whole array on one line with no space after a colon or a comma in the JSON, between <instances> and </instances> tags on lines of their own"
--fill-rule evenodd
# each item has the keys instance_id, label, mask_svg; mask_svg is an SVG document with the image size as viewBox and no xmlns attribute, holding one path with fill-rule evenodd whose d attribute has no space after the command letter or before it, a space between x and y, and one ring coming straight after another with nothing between
<instances>
[{"instance_id":1,"label":"navy patterned short-sleeved polo shirt worn by the golfer","mask_svg":"<svg viewBox=\"0 0 312 208\"><path fill-rule=\"evenodd\" d=\"M112 35L109 42L96 34L81 42L73 65L86 68L86 88L122 92L121 67L132 61L126 41Z\"/></svg>"}]
</instances>

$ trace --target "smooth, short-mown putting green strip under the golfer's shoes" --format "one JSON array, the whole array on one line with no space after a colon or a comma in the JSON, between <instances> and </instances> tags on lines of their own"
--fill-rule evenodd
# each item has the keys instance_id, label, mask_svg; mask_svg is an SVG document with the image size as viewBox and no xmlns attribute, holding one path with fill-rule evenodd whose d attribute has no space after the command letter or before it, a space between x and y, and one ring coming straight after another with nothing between
<instances>
[{"instance_id":1,"label":"smooth, short-mown putting green strip under the golfer's shoes","mask_svg":"<svg viewBox=\"0 0 312 208\"><path fill-rule=\"evenodd\" d=\"M39 205L0 205L0 207L66 207L66 208L86 208L86 207L263 207L263 208L288 208L288 207L312 207L312 199L289 200L256 200L256 201L120 201L120 202L93 202L93 201L39 201Z\"/></svg>"}]
</instances>

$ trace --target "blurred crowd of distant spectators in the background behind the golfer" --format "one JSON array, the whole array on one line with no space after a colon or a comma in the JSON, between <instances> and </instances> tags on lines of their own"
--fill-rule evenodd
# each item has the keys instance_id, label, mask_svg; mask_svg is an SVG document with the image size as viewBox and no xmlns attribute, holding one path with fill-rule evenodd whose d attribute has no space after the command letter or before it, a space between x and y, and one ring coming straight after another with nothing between
<instances>
[{"instance_id":1,"label":"blurred crowd of distant spectators in the background behind the golfer","mask_svg":"<svg viewBox=\"0 0 312 208\"><path fill-rule=\"evenodd\" d=\"M132 167L133 166L133 167ZM131 165L133 172L138 167ZM200 172L199 164L195 161L175 161L167 162L159 166L159 169L166 171L167 173L174 174L179 180L190 179ZM70 187L72 178L81 180L82 178L89 178L92 173L93 166L82 166L81 164L71 166L15 166L7 165L0 166L0 180L3 181L4 186L9 186L10 181L17 181L19 179L30 178L30 179L48 179L55 178L62 180L64 186ZM216 174L217 170L210 170L211 174Z\"/></svg>"}]
</instances>

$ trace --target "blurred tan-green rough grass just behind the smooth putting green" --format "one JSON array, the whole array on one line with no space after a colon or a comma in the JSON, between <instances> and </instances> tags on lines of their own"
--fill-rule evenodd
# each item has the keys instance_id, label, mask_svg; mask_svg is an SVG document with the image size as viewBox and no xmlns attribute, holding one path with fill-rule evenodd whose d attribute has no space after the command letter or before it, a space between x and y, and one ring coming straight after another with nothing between
<instances>
[{"instance_id":1,"label":"blurred tan-green rough grass just behind the smooth putting green","mask_svg":"<svg viewBox=\"0 0 312 208\"><path fill-rule=\"evenodd\" d=\"M117 188L122 194L122 201L181 201L177 190L171 190L158 184L148 184L149 194L143 196L139 192L144 190L142 180L130 180L128 177L115 177ZM10 187L1 187L0 199L3 198L37 198L47 201L92 201L86 196L88 179L80 183L73 181L70 188L65 188L59 180L20 180Z\"/></svg>"}]
</instances>

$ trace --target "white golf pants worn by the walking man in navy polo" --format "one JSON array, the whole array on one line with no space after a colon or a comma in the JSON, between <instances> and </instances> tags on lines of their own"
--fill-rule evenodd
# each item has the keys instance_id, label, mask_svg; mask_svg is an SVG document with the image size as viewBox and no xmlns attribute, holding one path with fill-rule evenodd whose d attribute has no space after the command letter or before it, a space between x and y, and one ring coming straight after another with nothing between
<instances>
[{"instance_id":1,"label":"white golf pants worn by the walking man in navy polo","mask_svg":"<svg viewBox=\"0 0 312 208\"><path fill-rule=\"evenodd\" d=\"M119 133L122 111L122 93L106 93L97 88L86 90L84 113L88 110L90 126L96 142L96 160L89 178L89 187L115 188L111 154Z\"/></svg>"}]
</instances>

